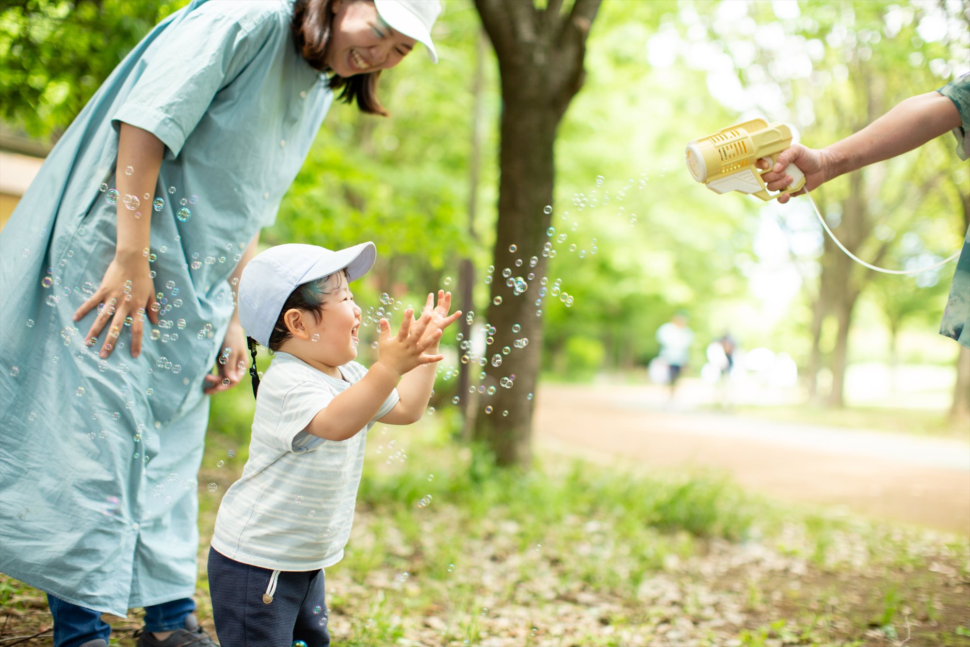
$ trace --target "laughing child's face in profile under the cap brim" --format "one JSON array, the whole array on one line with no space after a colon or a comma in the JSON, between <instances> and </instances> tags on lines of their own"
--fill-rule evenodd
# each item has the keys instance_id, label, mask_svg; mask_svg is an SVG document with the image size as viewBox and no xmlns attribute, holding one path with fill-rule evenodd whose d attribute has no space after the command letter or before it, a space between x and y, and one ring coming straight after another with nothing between
<instances>
[{"instance_id":1,"label":"laughing child's face in profile under the cap brim","mask_svg":"<svg viewBox=\"0 0 970 647\"><path fill-rule=\"evenodd\" d=\"M343 273L331 277L339 282L323 303L320 321L307 317L309 353L329 366L340 366L357 357L357 333L361 327L361 309L354 303L354 296Z\"/></svg>"}]
</instances>

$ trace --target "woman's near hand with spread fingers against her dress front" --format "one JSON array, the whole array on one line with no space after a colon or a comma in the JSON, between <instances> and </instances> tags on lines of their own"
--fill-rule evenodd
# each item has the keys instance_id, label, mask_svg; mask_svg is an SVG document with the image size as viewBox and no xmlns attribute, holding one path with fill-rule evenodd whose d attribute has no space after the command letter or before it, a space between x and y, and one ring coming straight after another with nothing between
<instances>
[{"instance_id":1,"label":"woman's near hand with spread fingers against her dress front","mask_svg":"<svg viewBox=\"0 0 970 647\"><path fill-rule=\"evenodd\" d=\"M151 323L158 323L159 306L155 301L155 286L150 272L148 259L141 252L115 254L101 285L74 313L74 321L77 322L92 309L98 308L97 318L84 335L87 346L94 346L105 324L111 321L101 345L101 358L112 354L126 327L131 328L131 357L141 355L146 315Z\"/></svg>"}]
</instances>

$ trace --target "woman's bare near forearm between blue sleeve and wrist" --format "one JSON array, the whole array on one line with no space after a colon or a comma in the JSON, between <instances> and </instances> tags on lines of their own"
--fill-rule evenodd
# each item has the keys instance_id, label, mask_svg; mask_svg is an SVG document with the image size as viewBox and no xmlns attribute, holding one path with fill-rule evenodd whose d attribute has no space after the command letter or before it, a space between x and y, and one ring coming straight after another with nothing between
<instances>
[{"instance_id":1,"label":"woman's bare near forearm between blue sleeve and wrist","mask_svg":"<svg viewBox=\"0 0 970 647\"><path fill-rule=\"evenodd\" d=\"M152 200L164 152L165 145L147 130L128 123L121 124L114 180L119 193L116 255L142 255L149 245L151 216L154 213ZM128 174L129 169L131 175ZM135 199L126 199L126 195Z\"/></svg>"}]
</instances>

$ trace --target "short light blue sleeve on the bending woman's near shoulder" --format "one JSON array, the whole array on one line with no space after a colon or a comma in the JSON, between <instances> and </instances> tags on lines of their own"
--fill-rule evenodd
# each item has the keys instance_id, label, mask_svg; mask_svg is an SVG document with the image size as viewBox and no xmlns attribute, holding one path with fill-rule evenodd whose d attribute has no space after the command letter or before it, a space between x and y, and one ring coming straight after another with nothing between
<instances>
[{"instance_id":1,"label":"short light blue sleeve on the bending woman's near shoulder","mask_svg":"<svg viewBox=\"0 0 970 647\"><path fill-rule=\"evenodd\" d=\"M206 3L159 36L146 51L139 80L113 114L115 127L124 122L147 130L178 156L216 92L242 72L275 28L272 14L234 12L234 4Z\"/></svg>"}]
</instances>

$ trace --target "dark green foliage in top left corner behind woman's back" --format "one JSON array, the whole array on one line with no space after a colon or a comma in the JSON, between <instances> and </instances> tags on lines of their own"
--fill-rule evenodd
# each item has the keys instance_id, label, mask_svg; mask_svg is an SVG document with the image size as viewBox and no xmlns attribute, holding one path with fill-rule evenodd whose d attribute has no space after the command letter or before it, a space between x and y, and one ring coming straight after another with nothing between
<instances>
[{"instance_id":1,"label":"dark green foliage in top left corner behind woman's back","mask_svg":"<svg viewBox=\"0 0 970 647\"><path fill-rule=\"evenodd\" d=\"M0 10L0 119L56 137L114 66L187 0L26 0Z\"/></svg>"}]
</instances>

